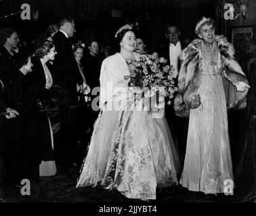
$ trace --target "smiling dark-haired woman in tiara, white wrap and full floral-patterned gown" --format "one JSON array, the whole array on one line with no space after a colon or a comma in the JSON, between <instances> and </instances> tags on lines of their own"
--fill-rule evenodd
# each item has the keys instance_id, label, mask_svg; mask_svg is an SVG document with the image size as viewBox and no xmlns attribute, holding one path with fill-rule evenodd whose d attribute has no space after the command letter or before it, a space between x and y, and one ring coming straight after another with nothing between
<instances>
[{"instance_id":1,"label":"smiling dark-haired woman in tiara, white wrap and full floral-patterned gown","mask_svg":"<svg viewBox=\"0 0 256 216\"><path fill-rule=\"evenodd\" d=\"M121 52L106 58L100 73L100 115L95 121L78 187L115 188L127 198L156 199L158 188L177 184L177 151L164 117L127 107L127 62L138 59L131 26L116 32ZM123 103L116 110L116 103ZM112 106L113 105L113 106Z\"/></svg>"}]
</instances>

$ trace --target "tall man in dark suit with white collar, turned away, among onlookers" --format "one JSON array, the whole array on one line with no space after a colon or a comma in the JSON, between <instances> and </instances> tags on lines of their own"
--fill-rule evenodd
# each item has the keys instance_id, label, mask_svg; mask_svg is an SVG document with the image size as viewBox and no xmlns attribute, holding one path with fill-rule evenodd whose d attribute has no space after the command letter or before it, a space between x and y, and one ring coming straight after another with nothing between
<instances>
[{"instance_id":1,"label":"tall man in dark suit with white collar, turned away, among onlookers","mask_svg":"<svg viewBox=\"0 0 256 216\"><path fill-rule=\"evenodd\" d=\"M70 41L75 32L74 20L63 18L60 20L58 32L53 36L55 49L58 53L54 60L53 80L54 84L61 86L66 91L70 105L77 103L77 76L74 68L77 62L74 59ZM69 163L76 162L74 161L74 155L72 155L74 148L77 148L76 138L74 137L74 113L76 113L76 110L70 109L70 117L61 122L60 132L55 135L56 161L59 171L66 171Z\"/></svg>"}]
</instances>

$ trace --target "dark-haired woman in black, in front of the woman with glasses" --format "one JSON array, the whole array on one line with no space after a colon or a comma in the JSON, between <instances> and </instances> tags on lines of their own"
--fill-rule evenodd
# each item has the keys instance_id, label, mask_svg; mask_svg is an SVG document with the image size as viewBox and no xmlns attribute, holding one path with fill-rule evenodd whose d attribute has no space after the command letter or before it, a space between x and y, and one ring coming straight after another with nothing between
<instances>
[{"instance_id":1,"label":"dark-haired woman in black, in front of the woman with glasses","mask_svg":"<svg viewBox=\"0 0 256 216\"><path fill-rule=\"evenodd\" d=\"M22 179L30 182L39 180L39 146L36 140L37 105L35 86L27 74L32 72L33 63L29 53L18 53L14 58L14 71L9 88L9 99L12 107L19 113L15 124L18 128L18 138L14 146L9 149L9 161L12 161L13 178L16 184Z\"/></svg>"}]
</instances>

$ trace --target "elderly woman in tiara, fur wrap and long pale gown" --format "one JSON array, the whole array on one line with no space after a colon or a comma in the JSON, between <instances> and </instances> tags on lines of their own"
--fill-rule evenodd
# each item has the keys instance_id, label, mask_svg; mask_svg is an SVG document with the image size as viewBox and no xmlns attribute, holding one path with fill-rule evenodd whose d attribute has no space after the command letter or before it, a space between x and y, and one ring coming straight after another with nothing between
<instances>
[{"instance_id":1,"label":"elderly woman in tiara, fur wrap and long pale gown","mask_svg":"<svg viewBox=\"0 0 256 216\"><path fill-rule=\"evenodd\" d=\"M190 119L180 184L205 194L233 194L227 109L246 106L249 85L232 44L215 30L214 20L202 18L195 28L199 38L181 55L174 109Z\"/></svg>"}]
</instances>

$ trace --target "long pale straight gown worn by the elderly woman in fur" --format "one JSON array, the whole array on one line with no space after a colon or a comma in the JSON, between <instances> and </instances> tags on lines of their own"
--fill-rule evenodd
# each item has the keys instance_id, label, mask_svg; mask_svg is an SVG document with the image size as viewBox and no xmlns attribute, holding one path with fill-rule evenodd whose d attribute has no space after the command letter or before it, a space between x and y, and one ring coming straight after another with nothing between
<instances>
[{"instance_id":1,"label":"long pale straight gown worn by the elderly woman in fur","mask_svg":"<svg viewBox=\"0 0 256 216\"><path fill-rule=\"evenodd\" d=\"M188 190L205 194L232 194L234 178L223 78L218 65L210 65L203 58L201 63L197 93L202 106L190 109L186 157L179 183Z\"/></svg>"}]
</instances>

